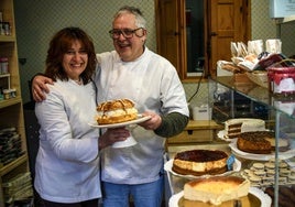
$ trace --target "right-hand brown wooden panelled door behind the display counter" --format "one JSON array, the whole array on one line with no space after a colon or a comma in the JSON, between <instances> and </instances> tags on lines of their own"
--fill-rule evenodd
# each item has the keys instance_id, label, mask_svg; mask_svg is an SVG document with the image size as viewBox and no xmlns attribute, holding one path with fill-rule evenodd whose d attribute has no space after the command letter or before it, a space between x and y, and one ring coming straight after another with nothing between
<instances>
[{"instance_id":1,"label":"right-hand brown wooden panelled door behind the display counter","mask_svg":"<svg viewBox=\"0 0 295 207\"><path fill-rule=\"evenodd\" d=\"M208 63L210 75L216 75L217 61L230 61L230 42L250 40L250 6L248 0L209 0Z\"/></svg>"}]
</instances>

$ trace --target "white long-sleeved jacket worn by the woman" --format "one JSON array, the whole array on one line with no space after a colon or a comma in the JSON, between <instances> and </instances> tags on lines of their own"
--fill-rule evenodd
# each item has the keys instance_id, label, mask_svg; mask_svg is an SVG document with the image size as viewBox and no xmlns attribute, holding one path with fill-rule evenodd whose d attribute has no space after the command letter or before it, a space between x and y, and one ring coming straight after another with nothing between
<instances>
[{"instance_id":1,"label":"white long-sleeved jacket worn by the woman","mask_svg":"<svg viewBox=\"0 0 295 207\"><path fill-rule=\"evenodd\" d=\"M57 80L36 102L41 124L35 188L42 198L77 203L101 197L94 84Z\"/></svg>"}]
</instances>

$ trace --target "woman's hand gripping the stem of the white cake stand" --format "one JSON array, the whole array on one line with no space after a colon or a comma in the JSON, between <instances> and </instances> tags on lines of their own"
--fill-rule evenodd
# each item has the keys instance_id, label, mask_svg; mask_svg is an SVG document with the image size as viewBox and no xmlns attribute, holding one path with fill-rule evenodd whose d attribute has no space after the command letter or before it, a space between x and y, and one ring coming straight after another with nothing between
<instances>
[{"instance_id":1,"label":"woman's hand gripping the stem of the white cake stand","mask_svg":"<svg viewBox=\"0 0 295 207\"><path fill-rule=\"evenodd\" d=\"M114 142L124 141L128 137L130 137L130 132L125 128L108 129L99 138L99 150L112 145Z\"/></svg>"}]
</instances>

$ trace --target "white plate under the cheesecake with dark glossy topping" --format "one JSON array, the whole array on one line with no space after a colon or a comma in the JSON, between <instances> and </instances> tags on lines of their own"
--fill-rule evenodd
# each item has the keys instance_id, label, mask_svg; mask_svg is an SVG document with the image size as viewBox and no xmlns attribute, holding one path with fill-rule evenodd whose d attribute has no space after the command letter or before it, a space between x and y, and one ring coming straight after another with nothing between
<instances>
[{"instance_id":1,"label":"white plate under the cheesecake with dark glossy topping","mask_svg":"<svg viewBox=\"0 0 295 207\"><path fill-rule=\"evenodd\" d=\"M173 175L176 175L176 176L179 176L179 177L189 178L189 179L216 176L216 175L208 175L208 174L207 174L207 175L200 175L200 176L196 176L196 175L182 175L182 174L175 173L175 172L172 170L173 161L174 161L174 159L171 159L171 160L168 160L168 161L165 163L165 165L164 165L164 170L165 170L166 172L172 173ZM238 159L234 159L233 166L232 166L232 171L228 171L228 172L226 172L226 173L218 174L218 176L221 176L221 175L229 175L229 174L231 174L231 173L233 173L233 172L239 172L240 170L241 170L241 162L240 162Z\"/></svg>"}]
</instances>

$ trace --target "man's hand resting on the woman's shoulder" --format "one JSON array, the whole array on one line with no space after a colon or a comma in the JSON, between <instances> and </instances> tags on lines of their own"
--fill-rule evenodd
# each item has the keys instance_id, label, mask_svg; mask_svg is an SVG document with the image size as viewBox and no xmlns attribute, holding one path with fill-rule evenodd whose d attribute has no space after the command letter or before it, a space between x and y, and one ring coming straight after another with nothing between
<instances>
[{"instance_id":1,"label":"man's hand resting on the woman's shoulder","mask_svg":"<svg viewBox=\"0 0 295 207\"><path fill-rule=\"evenodd\" d=\"M51 78L47 78L45 76L42 75L37 75L34 77L33 81L32 81L32 95L33 95L33 99L36 102L41 102L43 100L45 100L46 95L45 92L50 92L48 87L46 86L46 84L52 84L53 85L53 80Z\"/></svg>"}]
</instances>

